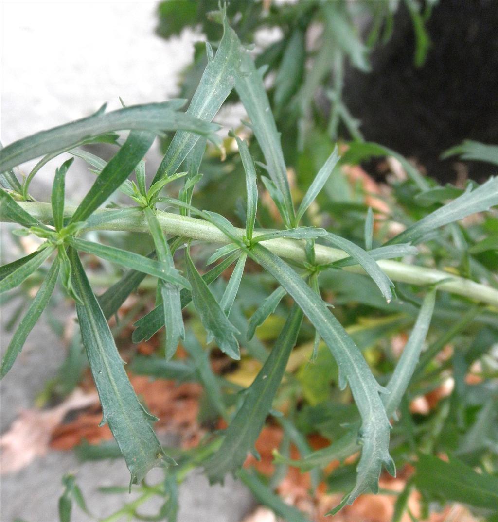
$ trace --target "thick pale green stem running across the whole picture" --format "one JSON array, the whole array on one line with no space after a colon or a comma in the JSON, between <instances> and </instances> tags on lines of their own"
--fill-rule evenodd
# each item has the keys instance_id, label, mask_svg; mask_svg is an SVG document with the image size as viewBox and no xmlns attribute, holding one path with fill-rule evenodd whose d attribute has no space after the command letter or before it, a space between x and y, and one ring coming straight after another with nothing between
<instances>
[{"instance_id":1,"label":"thick pale green stem running across the whole picture","mask_svg":"<svg viewBox=\"0 0 498 522\"><path fill-rule=\"evenodd\" d=\"M36 217L43 223L52 223L52 210L48 203L39 203L38 201L19 201L19 205L24 208L31 216ZM64 210L65 217L71 217L75 211L75 207L67 207ZM213 224L202 219L191 218L187 216L179 216L170 212L157 212L157 219L161 228L167 234L181 235L186 238L205 241L208 243L228 244L230 240L227 236L217 229ZM1 215L2 221L9 219ZM89 226L84 230L117 230L128 232L147 232L147 222L143 216L143 212L137 208L136 212L130 212L129 209L123 209L122 214L116 210L101 209L94 213L90 218ZM243 229L237 229L240 237L245 233ZM254 232L254 236L263 232ZM280 257L293 259L297 262L306 261L306 253L303 241L293 239L272 239L264 241L264 246L271 252ZM316 262L318 264L333 263L339 259L349 257L348 254L337 248L331 248L323 245L315 246ZM393 280L403 283L411 283L420 286L441 282L438 286L439 290L462 295L487 303L492 306L498 306L498 290L485 286L469 279L454 276L440 270L432 268L424 268L420 266L407 265L389 259L379 260L378 265ZM360 266L348 266L345 270L364 273Z\"/></svg>"}]
</instances>

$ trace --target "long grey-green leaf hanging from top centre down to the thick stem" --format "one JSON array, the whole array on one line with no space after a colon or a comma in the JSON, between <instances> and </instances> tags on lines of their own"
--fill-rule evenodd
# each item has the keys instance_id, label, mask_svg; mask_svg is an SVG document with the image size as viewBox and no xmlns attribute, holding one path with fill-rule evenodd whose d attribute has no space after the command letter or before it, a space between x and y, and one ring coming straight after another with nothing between
<instances>
[{"instance_id":1,"label":"long grey-green leaf hanging from top centre down to the thick stem","mask_svg":"<svg viewBox=\"0 0 498 522\"><path fill-rule=\"evenodd\" d=\"M224 27L226 32L234 32L228 27L226 20ZM237 38L236 35L235 38ZM270 101L263 85L261 72L256 69L251 55L240 43L238 54L240 65L235 76L235 89L251 120L250 127L263 151L268 173L282 193L285 209L285 215L282 217L286 219L286 225L291 227L294 222L294 205L287 179L280 133L277 132L273 113L270 110Z\"/></svg>"}]
</instances>

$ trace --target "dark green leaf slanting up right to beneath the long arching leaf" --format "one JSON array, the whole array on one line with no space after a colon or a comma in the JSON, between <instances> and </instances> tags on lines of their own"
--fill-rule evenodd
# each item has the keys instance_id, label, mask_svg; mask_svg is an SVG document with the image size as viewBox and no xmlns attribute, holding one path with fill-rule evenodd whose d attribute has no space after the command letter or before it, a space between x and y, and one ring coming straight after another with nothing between
<instances>
[{"instance_id":1,"label":"dark green leaf slanting up right to beneath the long arching leaf","mask_svg":"<svg viewBox=\"0 0 498 522\"><path fill-rule=\"evenodd\" d=\"M107 163L92 185L83 201L75 210L71 223L85 221L94 210L97 210L114 191L133 172L137 163L142 160L154 141L154 134L143 131L132 131L123 146Z\"/></svg>"}]
</instances>

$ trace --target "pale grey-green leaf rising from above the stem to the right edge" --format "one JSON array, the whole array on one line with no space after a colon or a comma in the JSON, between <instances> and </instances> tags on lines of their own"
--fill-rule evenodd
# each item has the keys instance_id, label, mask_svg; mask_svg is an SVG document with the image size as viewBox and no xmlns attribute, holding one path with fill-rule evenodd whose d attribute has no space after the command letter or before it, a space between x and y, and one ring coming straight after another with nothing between
<instances>
[{"instance_id":1,"label":"pale grey-green leaf rising from above the stem to the right edge","mask_svg":"<svg viewBox=\"0 0 498 522\"><path fill-rule=\"evenodd\" d=\"M386 244L418 243L428 232L464 219L473 213L484 212L496 205L498 205L498 177L491 177L474 190L472 190L472 185L469 185L460 197L434 210Z\"/></svg>"}]
</instances>

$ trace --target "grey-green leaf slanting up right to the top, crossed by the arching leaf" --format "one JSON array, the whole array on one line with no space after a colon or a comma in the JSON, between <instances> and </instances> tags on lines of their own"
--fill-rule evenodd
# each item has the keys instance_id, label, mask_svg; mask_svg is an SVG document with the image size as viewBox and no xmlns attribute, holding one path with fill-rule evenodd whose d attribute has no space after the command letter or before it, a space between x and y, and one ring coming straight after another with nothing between
<instances>
[{"instance_id":1,"label":"grey-green leaf slanting up right to the top, crossed by the arching leaf","mask_svg":"<svg viewBox=\"0 0 498 522\"><path fill-rule=\"evenodd\" d=\"M206 122L214 118L234 87L234 75L238 66L237 52L237 35L225 23L223 38L214 59L209 61L204 70L187 110L188 115ZM153 183L175 173L198 139L199 135L178 131L171 140Z\"/></svg>"}]
</instances>

